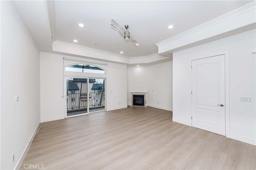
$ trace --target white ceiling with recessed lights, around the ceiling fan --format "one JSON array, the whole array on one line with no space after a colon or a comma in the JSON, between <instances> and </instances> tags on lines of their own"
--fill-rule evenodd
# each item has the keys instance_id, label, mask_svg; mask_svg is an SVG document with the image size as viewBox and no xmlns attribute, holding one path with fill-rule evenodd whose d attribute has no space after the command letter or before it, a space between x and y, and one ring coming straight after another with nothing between
<instances>
[{"instance_id":1,"label":"white ceiling with recessed lights, around the ceiling fan","mask_svg":"<svg viewBox=\"0 0 256 170\"><path fill-rule=\"evenodd\" d=\"M156 43L217 18L252 1L55 1L54 39L134 57L157 53ZM42 1L14 4L41 51L50 32ZM140 44L126 43L111 29L111 19L129 31ZM78 27L84 23L85 28ZM168 30L168 25L174 25ZM38 26L39 25L39 26ZM95 45L97 43L97 45Z\"/></svg>"}]
</instances>

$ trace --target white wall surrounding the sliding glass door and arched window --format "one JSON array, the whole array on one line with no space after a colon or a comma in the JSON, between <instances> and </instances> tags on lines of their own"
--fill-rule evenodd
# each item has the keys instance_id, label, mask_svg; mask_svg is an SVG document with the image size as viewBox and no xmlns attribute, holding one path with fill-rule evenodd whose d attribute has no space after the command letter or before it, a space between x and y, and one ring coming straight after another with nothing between
<instances>
[{"instance_id":1,"label":"white wall surrounding the sliding glass door and arched window","mask_svg":"<svg viewBox=\"0 0 256 170\"><path fill-rule=\"evenodd\" d=\"M40 113L41 122L64 119L65 99L63 95L63 57L74 60L81 58L40 52ZM84 61L99 62L90 59ZM80 62L82 63L82 62ZM127 66L116 63L100 65L106 69L106 109L122 109L127 107ZM90 77L88 73L80 73ZM96 74L94 74L96 75ZM98 76L102 76L97 74ZM97 76L96 75L96 76ZM119 104L120 103L120 104Z\"/></svg>"}]
</instances>

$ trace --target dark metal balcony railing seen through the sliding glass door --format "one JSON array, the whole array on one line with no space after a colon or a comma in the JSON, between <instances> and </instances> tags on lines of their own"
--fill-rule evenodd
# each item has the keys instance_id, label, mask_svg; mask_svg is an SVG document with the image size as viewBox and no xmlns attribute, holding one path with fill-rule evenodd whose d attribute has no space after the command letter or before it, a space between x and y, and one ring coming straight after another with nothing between
<instances>
[{"instance_id":1,"label":"dark metal balcony railing seen through the sliding glass door","mask_svg":"<svg viewBox=\"0 0 256 170\"><path fill-rule=\"evenodd\" d=\"M69 93L67 98L67 110L87 108L89 98L89 108L105 106L105 92L95 93Z\"/></svg>"}]
</instances>

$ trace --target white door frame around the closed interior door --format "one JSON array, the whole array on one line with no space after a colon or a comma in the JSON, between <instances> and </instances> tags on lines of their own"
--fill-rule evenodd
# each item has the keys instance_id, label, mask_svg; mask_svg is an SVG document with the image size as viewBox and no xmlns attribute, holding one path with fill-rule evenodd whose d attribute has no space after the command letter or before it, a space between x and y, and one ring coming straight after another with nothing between
<instances>
[{"instance_id":1,"label":"white door frame around the closed interior door","mask_svg":"<svg viewBox=\"0 0 256 170\"><path fill-rule=\"evenodd\" d=\"M225 132L226 137L230 137L230 112L229 112L229 51L206 51L198 54L193 54L189 61L189 125L192 127L192 61L208 57L224 55L225 57Z\"/></svg>"}]
</instances>

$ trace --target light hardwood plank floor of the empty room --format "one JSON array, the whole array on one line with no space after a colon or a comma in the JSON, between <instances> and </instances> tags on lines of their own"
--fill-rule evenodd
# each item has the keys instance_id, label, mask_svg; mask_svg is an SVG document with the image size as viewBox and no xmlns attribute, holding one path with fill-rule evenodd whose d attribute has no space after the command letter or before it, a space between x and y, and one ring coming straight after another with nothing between
<instances>
[{"instance_id":1,"label":"light hardwood plank floor of the empty room","mask_svg":"<svg viewBox=\"0 0 256 170\"><path fill-rule=\"evenodd\" d=\"M255 146L128 107L43 123L22 163L44 169L255 169Z\"/></svg>"}]
</instances>

